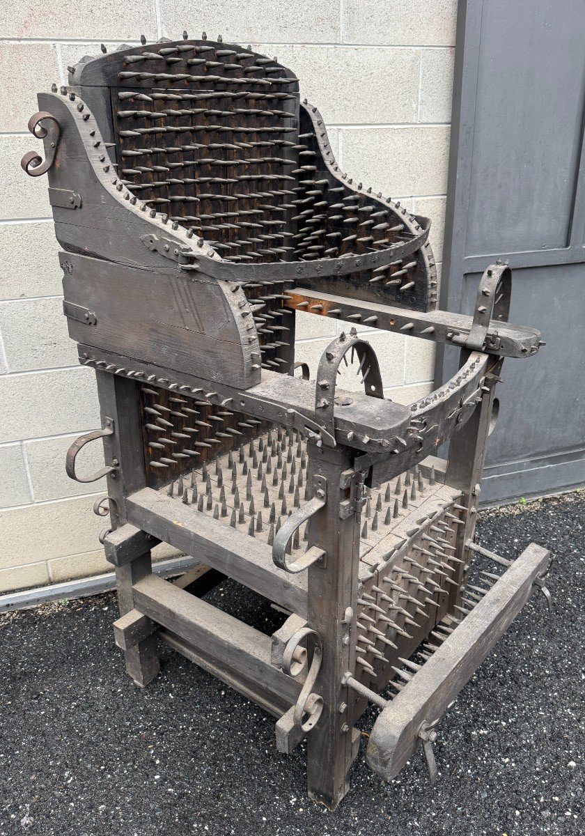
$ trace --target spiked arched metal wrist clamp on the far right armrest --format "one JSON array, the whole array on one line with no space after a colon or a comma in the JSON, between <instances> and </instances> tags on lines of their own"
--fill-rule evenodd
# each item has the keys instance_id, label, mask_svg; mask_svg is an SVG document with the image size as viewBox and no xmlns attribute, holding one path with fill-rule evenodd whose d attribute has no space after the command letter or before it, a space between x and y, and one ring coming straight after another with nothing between
<instances>
[{"instance_id":1,"label":"spiked arched metal wrist clamp on the far right armrest","mask_svg":"<svg viewBox=\"0 0 585 836\"><path fill-rule=\"evenodd\" d=\"M481 351L486 343L492 350L500 347L496 331L488 334L491 319L506 322L510 313L511 269L507 264L490 264L481 277L477 291L473 323L467 337L455 336L453 342L466 349Z\"/></svg>"}]
</instances>

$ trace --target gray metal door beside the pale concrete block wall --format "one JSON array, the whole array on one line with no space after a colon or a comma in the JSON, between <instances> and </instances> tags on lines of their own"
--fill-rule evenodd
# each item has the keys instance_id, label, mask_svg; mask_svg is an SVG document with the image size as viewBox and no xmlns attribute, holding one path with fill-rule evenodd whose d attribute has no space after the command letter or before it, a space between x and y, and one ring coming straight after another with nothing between
<instances>
[{"instance_id":1,"label":"gray metal door beside the pale concrete block wall","mask_svg":"<svg viewBox=\"0 0 585 836\"><path fill-rule=\"evenodd\" d=\"M585 18L582 0L460 0L441 307L471 314L512 268L512 322L547 341L506 360L482 501L585 482ZM457 354L437 355L436 377Z\"/></svg>"}]
</instances>

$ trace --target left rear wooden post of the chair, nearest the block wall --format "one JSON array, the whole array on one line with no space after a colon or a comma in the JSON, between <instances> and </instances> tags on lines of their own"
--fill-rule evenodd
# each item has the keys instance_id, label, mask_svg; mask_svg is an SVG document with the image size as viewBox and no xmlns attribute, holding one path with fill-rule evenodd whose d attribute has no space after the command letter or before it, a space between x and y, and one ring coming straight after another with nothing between
<instances>
[{"instance_id":1,"label":"left rear wooden post of the chair, nearest the block wall","mask_svg":"<svg viewBox=\"0 0 585 836\"><path fill-rule=\"evenodd\" d=\"M102 420L114 421L114 434L104 438L104 456L108 464L118 462L117 472L108 478L112 528L127 522L126 497L145 487L145 461L140 429L138 385L133 380L96 372L99 410ZM120 615L134 609L133 586L152 571L150 549L125 566L116 567L116 587ZM136 685L144 687L160 670L156 635L149 635L130 650L125 650L126 670Z\"/></svg>"}]
</instances>

